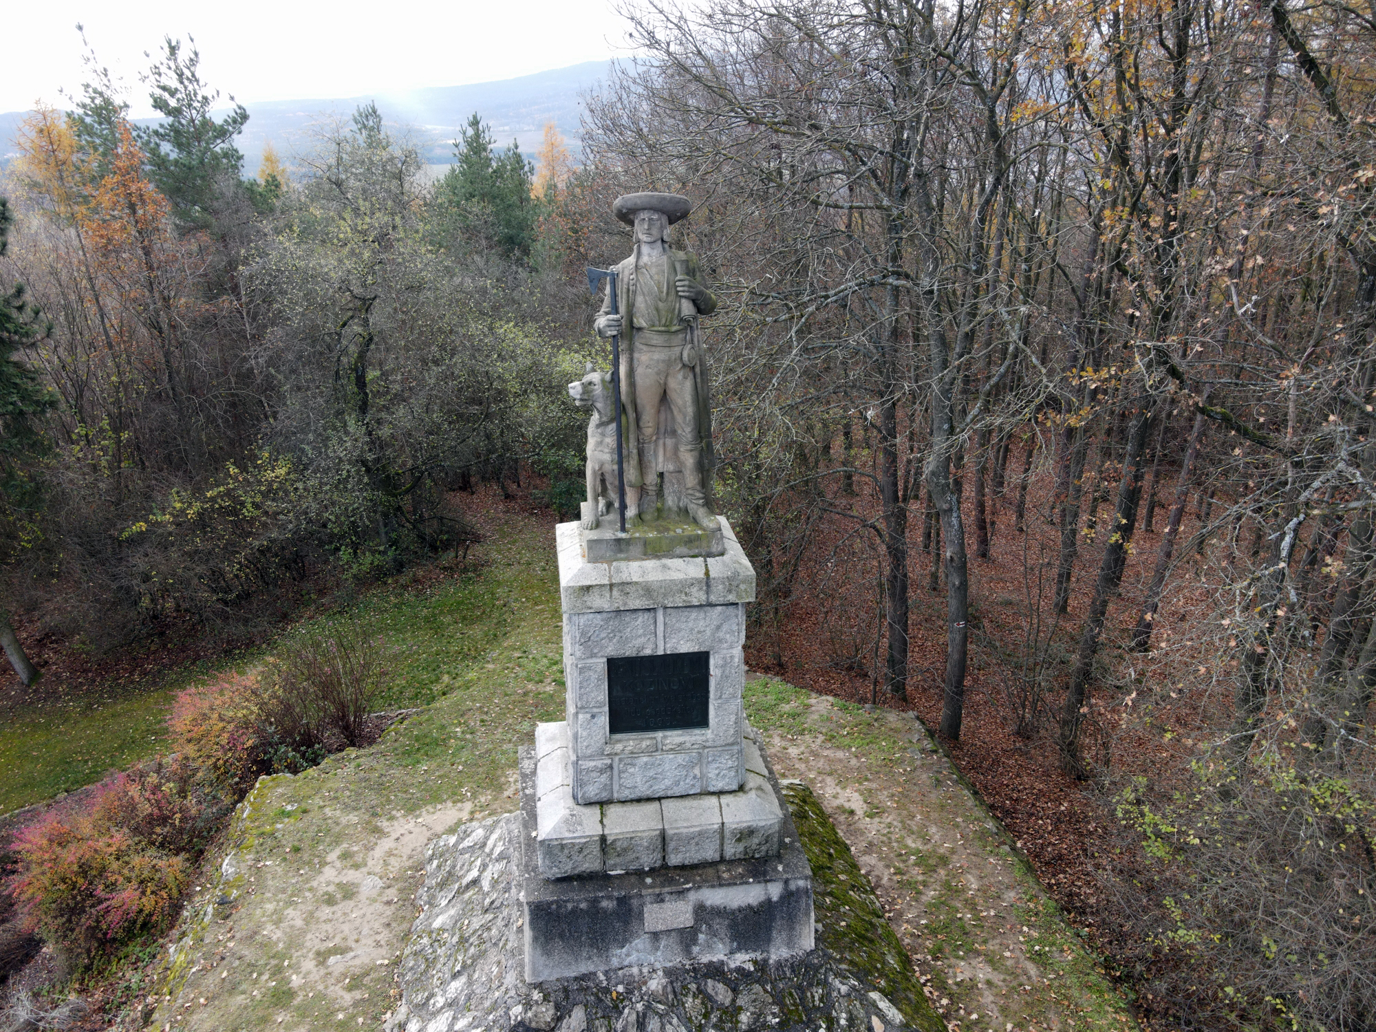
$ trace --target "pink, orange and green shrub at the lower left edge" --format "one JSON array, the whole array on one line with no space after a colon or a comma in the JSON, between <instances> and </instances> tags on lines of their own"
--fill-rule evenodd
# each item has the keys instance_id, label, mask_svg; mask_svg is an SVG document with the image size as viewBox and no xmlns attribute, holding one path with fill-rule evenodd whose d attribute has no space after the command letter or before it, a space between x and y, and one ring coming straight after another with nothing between
<instances>
[{"instance_id":1,"label":"pink, orange and green shrub at the lower left edge","mask_svg":"<svg viewBox=\"0 0 1376 1032\"><path fill-rule=\"evenodd\" d=\"M6 889L23 927L87 965L172 922L215 817L183 768L113 775L18 832Z\"/></svg>"}]
</instances>

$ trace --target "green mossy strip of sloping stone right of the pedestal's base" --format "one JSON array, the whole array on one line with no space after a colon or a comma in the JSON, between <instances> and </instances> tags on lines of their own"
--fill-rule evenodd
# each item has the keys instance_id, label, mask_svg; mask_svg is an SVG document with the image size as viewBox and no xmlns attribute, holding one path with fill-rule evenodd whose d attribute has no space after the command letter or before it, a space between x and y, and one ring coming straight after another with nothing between
<instances>
[{"instance_id":1,"label":"green mossy strip of sloping stone right of the pedestal's base","mask_svg":"<svg viewBox=\"0 0 1376 1032\"><path fill-rule=\"evenodd\" d=\"M885 921L870 879L827 817L817 797L798 782L783 784L798 839L812 864L817 945L835 955L863 984L883 993L912 1028L945 1032L932 1009L912 962Z\"/></svg>"}]
</instances>

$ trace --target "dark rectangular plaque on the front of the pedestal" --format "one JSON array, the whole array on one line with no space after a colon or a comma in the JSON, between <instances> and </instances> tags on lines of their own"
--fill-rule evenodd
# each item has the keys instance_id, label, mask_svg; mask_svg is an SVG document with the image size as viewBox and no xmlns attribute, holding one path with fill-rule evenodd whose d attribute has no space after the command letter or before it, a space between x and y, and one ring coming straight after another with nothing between
<instances>
[{"instance_id":1,"label":"dark rectangular plaque on the front of the pedestal","mask_svg":"<svg viewBox=\"0 0 1376 1032\"><path fill-rule=\"evenodd\" d=\"M614 656L607 660L608 731L706 728L710 652Z\"/></svg>"}]
</instances>

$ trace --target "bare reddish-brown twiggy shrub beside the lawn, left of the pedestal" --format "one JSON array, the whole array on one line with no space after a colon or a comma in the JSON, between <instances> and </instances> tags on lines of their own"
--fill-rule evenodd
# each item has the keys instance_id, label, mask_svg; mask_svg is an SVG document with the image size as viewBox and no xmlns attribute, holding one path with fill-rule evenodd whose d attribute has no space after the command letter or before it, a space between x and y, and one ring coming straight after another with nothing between
<instances>
[{"instance_id":1,"label":"bare reddish-brown twiggy shrub beside the lawn, left of the pedestal","mask_svg":"<svg viewBox=\"0 0 1376 1032\"><path fill-rule=\"evenodd\" d=\"M387 687L388 649L356 622L341 622L288 643L278 684L285 699L314 709L351 746L359 744L363 722Z\"/></svg>"}]
</instances>

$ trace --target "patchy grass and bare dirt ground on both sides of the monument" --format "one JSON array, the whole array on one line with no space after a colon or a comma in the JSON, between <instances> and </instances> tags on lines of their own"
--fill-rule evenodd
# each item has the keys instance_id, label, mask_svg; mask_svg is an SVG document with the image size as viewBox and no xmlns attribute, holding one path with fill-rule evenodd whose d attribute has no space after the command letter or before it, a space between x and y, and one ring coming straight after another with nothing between
<instances>
[{"instance_id":1,"label":"patchy grass and bare dirt ground on both sides of the monument","mask_svg":"<svg viewBox=\"0 0 1376 1032\"><path fill-rule=\"evenodd\" d=\"M380 1028L424 843L516 809L517 746L563 714L553 528L515 516L480 553L477 571L396 583L358 605L402 652L387 705L424 709L373 749L260 782L144 998L153 1028ZM819 877L835 875L842 900L860 870L878 890L892 938L861 923L853 943L835 914L823 907L819 919L821 941L871 949L870 966L890 969L875 976L886 996L908 1010L900 1000L922 992L963 1029L1124 1026L1094 958L911 717L768 678L747 684L746 707L779 775L812 786L854 850L838 866L819 856Z\"/></svg>"}]
</instances>

